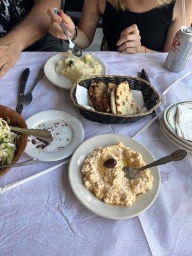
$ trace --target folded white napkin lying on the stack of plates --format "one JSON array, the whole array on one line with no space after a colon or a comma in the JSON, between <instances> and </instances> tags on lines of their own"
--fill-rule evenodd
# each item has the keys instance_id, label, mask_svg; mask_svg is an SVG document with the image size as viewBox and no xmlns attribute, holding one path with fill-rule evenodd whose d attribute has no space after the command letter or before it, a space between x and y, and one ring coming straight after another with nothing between
<instances>
[{"instance_id":1,"label":"folded white napkin lying on the stack of plates","mask_svg":"<svg viewBox=\"0 0 192 256\"><path fill-rule=\"evenodd\" d=\"M175 126L180 137L192 141L192 109L179 105Z\"/></svg>"}]
</instances>

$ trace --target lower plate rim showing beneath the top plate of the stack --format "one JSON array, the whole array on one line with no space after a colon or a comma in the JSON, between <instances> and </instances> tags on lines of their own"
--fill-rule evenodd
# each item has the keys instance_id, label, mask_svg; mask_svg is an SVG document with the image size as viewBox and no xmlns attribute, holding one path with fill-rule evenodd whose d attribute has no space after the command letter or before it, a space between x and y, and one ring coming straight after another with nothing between
<instances>
[{"instance_id":1,"label":"lower plate rim showing beneath the top plate of the stack","mask_svg":"<svg viewBox=\"0 0 192 256\"><path fill-rule=\"evenodd\" d=\"M187 150L189 153L192 153L192 148L190 148L189 145L187 145L186 143L183 143L182 141L180 141L179 139L177 139L177 137L175 137L164 125L163 119L161 118L160 121L160 127L161 127L161 131L163 132L164 136L166 136L166 138L168 138L168 140L170 140L173 144L175 144L177 147L182 148L184 150Z\"/></svg>"}]
</instances>

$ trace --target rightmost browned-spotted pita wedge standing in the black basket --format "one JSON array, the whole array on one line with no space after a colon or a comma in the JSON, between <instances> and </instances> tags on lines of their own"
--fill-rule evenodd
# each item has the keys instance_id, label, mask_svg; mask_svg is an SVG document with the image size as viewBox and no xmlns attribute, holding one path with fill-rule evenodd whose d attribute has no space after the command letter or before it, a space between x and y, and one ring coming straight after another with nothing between
<instances>
[{"instance_id":1,"label":"rightmost browned-spotted pita wedge standing in the black basket","mask_svg":"<svg viewBox=\"0 0 192 256\"><path fill-rule=\"evenodd\" d=\"M116 111L119 115L132 115L138 112L136 102L132 97L129 84L127 82L118 84L116 88Z\"/></svg>"}]
</instances>

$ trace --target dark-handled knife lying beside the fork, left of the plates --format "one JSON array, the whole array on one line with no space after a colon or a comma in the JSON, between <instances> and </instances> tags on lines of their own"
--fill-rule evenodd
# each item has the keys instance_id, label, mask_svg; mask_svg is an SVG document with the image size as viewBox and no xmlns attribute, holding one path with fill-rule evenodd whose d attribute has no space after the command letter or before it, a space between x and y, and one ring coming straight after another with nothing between
<instances>
[{"instance_id":1,"label":"dark-handled knife lying beside the fork, left of the plates","mask_svg":"<svg viewBox=\"0 0 192 256\"><path fill-rule=\"evenodd\" d=\"M26 89L26 83L28 81L29 73L30 73L29 68L26 68L22 72L22 75L21 75L20 81L19 81L19 93L18 93L17 102L20 102L20 100L24 96L24 92L25 92L25 89ZM17 104L17 107L16 107L15 111L17 111L17 113L19 113L19 115L21 115L22 109L23 109L23 106L20 105L20 104Z\"/></svg>"}]
</instances>

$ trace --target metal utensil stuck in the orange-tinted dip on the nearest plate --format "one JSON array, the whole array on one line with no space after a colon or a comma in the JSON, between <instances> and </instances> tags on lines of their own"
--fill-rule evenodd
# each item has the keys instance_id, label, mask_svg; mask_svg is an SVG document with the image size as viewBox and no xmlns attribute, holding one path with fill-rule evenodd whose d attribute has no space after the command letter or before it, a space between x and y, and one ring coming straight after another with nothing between
<instances>
[{"instance_id":1,"label":"metal utensil stuck in the orange-tinted dip on the nearest plate","mask_svg":"<svg viewBox=\"0 0 192 256\"><path fill-rule=\"evenodd\" d=\"M125 176L128 178L128 179L134 179L135 178L135 175L147 168L151 168L151 167L154 167L154 166L157 166L157 165L161 165L161 164L166 164L166 163L170 163L170 162L173 162L173 161L180 161L182 159L184 159L186 156L187 156L187 151L186 150L176 150L174 151L172 154L170 154L169 156L165 156L165 157L162 157L160 159L158 159L157 161L153 162L153 163L150 163L150 164L147 164L145 166L142 166L140 168L131 168L131 167L128 167L128 166L124 166L123 167L123 171L125 172Z\"/></svg>"}]
</instances>

